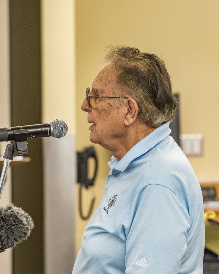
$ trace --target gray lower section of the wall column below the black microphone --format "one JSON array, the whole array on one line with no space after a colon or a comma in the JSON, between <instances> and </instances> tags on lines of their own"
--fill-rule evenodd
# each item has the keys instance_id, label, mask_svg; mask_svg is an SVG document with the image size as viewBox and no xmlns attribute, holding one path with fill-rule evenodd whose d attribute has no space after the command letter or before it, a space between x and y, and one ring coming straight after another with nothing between
<instances>
[{"instance_id":1,"label":"gray lower section of the wall column below the black microphone","mask_svg":"<svg viewBox=\"0 0 219 274\"><path fill-rule=\"evenodd\" d=\"M43 138L44 269L71 273L75 240L75 135Z\"/></svg>"}]
</instances>

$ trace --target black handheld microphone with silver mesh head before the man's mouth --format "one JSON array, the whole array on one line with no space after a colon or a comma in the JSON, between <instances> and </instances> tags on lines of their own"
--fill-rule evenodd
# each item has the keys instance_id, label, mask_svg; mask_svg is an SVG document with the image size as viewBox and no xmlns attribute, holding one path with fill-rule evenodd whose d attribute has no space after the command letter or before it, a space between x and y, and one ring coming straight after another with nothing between
<instances>
[{"instance_id":1,"label":"black handheld microphone with silver mesh head before the man's mouth","mask_svg":"<svg viewBox=\"0 0 219 274\"><path fill-rule=\"evenodd\" d=\"M68 132L67 124L63 120L56 119L47 124L0 128L0 142L16 140L19 130L21 129L28 130L27 138L41 138L49 136L61 138Z\"/></svg>"}]
</instances>

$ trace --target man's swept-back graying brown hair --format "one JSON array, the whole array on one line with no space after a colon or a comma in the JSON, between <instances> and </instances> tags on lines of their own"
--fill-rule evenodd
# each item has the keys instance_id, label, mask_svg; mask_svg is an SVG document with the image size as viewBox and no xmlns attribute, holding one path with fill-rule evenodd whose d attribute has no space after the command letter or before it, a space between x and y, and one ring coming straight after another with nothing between
<instances>
[{"instance_id":1,"label":"man's swept-back graying brown hair","mask_svg":"<svg viewBox=\"0 0 219 274\"><path fill-rule=\"evenodd\" d=\"M169 73L158 56L134 47L111 47L105 59L115 65L118 83L136 100L146 125L158 128L172 120L177 100L172 95Z\"/></svg>"}]
</instances>

